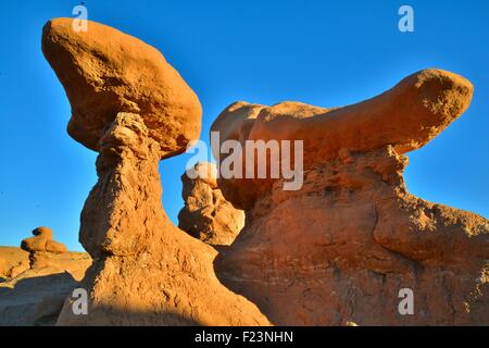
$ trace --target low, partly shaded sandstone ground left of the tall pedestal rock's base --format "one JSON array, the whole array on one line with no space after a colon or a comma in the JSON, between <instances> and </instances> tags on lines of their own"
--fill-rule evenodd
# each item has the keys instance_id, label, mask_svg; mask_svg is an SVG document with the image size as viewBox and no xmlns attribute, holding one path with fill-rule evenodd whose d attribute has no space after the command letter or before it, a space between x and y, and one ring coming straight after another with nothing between
<instances>
[{"instance_id":1,"label":"low, partly shaded sandstone ground left of the tall pedestal rock's base","mask_svg":"<svg viewBox=\"0 0 489 348\"><path fill-rule=\"evenodd\" d=\"M85 252L29 253L0 247L0 325L54 325L63 302L91 264ZM4 275L1 275L3 273Z\"/></svg>"}]
</instances>

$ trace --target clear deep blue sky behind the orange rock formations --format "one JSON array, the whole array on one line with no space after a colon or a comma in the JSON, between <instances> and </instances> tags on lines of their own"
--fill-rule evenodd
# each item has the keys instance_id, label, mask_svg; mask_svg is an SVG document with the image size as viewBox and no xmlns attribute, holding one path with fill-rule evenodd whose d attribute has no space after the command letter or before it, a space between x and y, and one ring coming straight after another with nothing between
<instances>
[{"instance_id":1,"label":"clear deep blue sky behind the orange rock formations","mask_svg":"<svg viewBox=\"0 0 489 348\"><path fill-rule=\"evenodd\" d=\"M70 249L96 183L96 153L66 134L70 104L42 57L42 25L72 16L76 1L3 1L0 12L0 245L20 245L39 225ZM203 105L202 138L236 100L299 100L322 107L361 101L425 67L475 85L469 110L411 152L409 189L489 216L489 1L85 1L89 20L155 46ZM415 32L398 30L410 4ZM183 206L190 154L162 162L163 203Z\"/></svg>"}]
</instances>

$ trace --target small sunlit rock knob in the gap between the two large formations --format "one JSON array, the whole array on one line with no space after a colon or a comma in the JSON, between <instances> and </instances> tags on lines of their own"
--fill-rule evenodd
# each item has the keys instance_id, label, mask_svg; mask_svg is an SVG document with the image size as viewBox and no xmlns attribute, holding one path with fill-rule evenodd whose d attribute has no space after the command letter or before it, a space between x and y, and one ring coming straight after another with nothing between
<instances>
[{"instance_id":1,"label":"small sunlit rock knob in the gap between the two large formations","mask_svg":"<svg viewBox=\"0 0 489 348\"><path fill-rule=\"evenodd\" d=\"M178 227L208 244L230 245L244 226L244 212L224 199L214 164L199 162L188 173L181 175Z\"/></svg>"}]
</instances>

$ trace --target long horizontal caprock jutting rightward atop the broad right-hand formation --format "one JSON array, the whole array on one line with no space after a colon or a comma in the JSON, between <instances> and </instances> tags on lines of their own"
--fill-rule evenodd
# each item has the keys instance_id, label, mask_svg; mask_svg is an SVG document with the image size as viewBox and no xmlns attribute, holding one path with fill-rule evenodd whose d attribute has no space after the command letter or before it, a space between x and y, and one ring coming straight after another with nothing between
<instances>
[{"instance_id":1,"label":"long horizontal caprock jutting rightward atop the broad right-hand formation","mask_svg":"<svg viewBox=\"0 0 489 348\"><path fill-rule=\"evenodd\" d=\"M474 87L460 75L442 70L423 70L405 77L386 92L343 108L318 108L286 101L273 107L236 102L215 120L211 132L220 141L303 141L303 165L338 158L342 150L371 151L393 146L398 153L421 148L469 105ZM221 162L225 157L213 147ZM292 156L293 158L293 156ZM243 173L247 169L241 153ZM254 157L258 166L260 157ZM272 158L267 158L269 167ZM276 163L280 166L280 163ZM242 176L244 177L244 175ZM227 199L244 209L269 190L274 181L221 178Z\"/></svg>"}]
</instances>

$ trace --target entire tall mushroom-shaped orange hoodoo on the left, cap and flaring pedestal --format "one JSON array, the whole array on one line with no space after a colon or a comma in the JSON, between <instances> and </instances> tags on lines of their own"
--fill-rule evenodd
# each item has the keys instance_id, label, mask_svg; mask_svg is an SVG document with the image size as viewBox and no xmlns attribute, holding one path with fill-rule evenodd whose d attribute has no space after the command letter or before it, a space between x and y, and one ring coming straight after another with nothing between
<instances>
[{"instance_id":1,"label":"entire tall mushroom-shaped orange hoodoo on the left, cap and flaring pedestal","mask_svg":"<svg viewBox=\"0 0 489 348\"><path fill-rule=\"evenodd\" d=\"M89 22L50 21L42 51L73 109L68 133L99 152L98 183L82 212L80 243L95 259L82 286L88 315L67 299L61 325L267 325L217 279L211 246L175 227L161 204L159 161L200 132L201 107L163 55Z\"/></svg>"}]
</instances>

